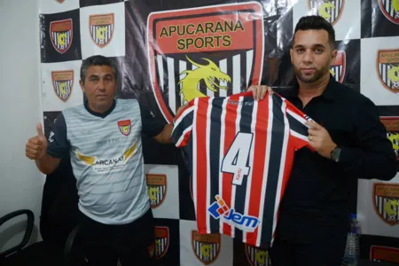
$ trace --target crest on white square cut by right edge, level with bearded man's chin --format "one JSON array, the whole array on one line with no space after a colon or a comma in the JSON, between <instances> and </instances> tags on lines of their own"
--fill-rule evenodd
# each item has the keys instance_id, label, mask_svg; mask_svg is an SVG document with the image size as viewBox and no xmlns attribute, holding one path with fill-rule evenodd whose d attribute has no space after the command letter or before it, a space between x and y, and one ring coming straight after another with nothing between
<instances>
[{"instance_id":1,"label":"crest on white square cut by right edge, level with bearded man's chin","mask_svg":"<svg viewBox=\"0 0 399 266\"><path fill-rule=\"evenodd\" d=\"M377 73L387 90L399 92L399 49L378 51Z\"/></svg>"}]
</instances>

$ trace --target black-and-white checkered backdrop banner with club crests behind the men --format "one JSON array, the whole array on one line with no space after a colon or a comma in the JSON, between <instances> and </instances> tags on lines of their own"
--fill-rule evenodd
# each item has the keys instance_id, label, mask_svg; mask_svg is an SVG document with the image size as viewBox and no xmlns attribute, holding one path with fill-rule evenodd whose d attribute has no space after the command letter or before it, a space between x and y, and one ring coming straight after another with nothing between
<instances>
[{"instance_id":1,"label":"black-and-white checkered backdrop banner with club crests behind the men","mask_svg":"<svg viewBox=\"0 0 399 266\"><path fill-rule=\"evenodd\" d=\"M45 134L62 110L82 104L80 66L96 54L117 62L118 98L137 98L168 122L192 98L229 96L251 84L291 86L293 29L309 14L332 23L338 56L330 71L379 107L399 158L396 0L42 0ZM145 136L143 142L162 265L271 265L267 250L198 234L181 151ZM359 179L350 204L362 226L361 257L399 262L399 175L390 182Z\"/></svg>"}]
</instances>

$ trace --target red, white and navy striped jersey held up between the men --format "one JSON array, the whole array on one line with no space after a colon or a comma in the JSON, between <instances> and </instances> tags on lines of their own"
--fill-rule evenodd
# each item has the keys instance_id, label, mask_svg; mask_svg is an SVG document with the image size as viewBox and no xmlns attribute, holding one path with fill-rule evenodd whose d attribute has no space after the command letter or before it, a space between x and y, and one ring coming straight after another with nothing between
<instances>
[{"instance_id":1,"label":"red, white and navy striped jersey held up between the men","mask_svg":"<svg viewBox=\"0 0 399 266\"><path fill-rule=\"evenodd\" d=\"M276 93L195 98L184 107L172 140L188 159L200 233L272 242L293 153L309 147L307 120Z\"/></svg>"}]
</instances>

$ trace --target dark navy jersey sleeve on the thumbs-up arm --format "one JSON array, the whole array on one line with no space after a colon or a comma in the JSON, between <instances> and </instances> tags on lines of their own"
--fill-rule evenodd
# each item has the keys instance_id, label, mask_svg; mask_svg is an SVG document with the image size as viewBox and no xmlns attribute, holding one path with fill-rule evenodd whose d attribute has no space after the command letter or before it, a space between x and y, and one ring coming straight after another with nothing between
<instances>
[{"instance_id":1,"label":"dark navy jersey sleeve on the thumbs-up arm","mask_svg":"<svg viewBox=\"0 0 399 266\"><path fill-rule=\"evenodd\" d=\"M47 154L54 158L65 158L69 154L69 142L66 138L66 121L61 113L54 122L47 139Z\"/></svg>"}]
</instances>

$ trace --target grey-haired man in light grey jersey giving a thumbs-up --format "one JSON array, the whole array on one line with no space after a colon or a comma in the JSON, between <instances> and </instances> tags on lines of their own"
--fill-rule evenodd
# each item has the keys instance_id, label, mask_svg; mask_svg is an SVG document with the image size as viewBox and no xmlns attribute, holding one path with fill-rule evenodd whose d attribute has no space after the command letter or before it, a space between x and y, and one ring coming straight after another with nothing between
<instances>
[{"instance_id":1,"label":"grey-haired man in light grey jersey giving a thumbs-up","mask_svg":"<svg viewBox=\"0 0 399 266\"><path fill-rule=\"evenodd\" d=\"M122 265L151 265L153 214L141 134L166 144L173 126L156 120L136 99L114 99L116 76L106 57L83 60L80 85L87 102L62 111L48 140L38 123L26 156L47 175L70 156L90 265L116 265L118 259Z\"/></svg>"}]
</instances>

